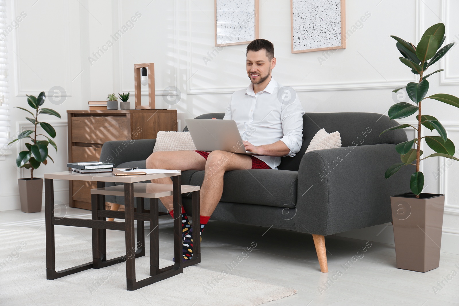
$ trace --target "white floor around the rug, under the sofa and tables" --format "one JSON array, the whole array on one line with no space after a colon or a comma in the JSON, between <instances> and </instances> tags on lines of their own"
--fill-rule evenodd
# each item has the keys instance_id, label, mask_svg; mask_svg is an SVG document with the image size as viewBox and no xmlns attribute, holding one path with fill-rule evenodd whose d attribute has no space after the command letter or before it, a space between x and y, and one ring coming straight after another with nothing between
<instances>
[{"instance_id":1,"label":"white floor around the rug, under the sofa and tables","mask_svg":"<svg viewBox=\"0 0 459 306\"><path fill-rule=\"evenodd\" d=\"M67 208L62 213L67 217L90 218L89 211L77 208ZM28 226L44 231L44 217L44 211L31 214L19 210L1 211L0 227ZM148 234L148 223L146 228ZM91 239L89 228L56 226L56 233L76 239ZM313 239L307 234L210 222L202 238L200 267L216 272L225 270L298 290L296 295L266 303L269 306L459 305L459 255L442 253L439 268L417 273L395 267L393 245L330 236L325 239L330 272L321 273ZM172 220L169 216L160 217L159 239L160 257L171 259ZM124 232L107 231L107 243L122 251ZM251 252L243 253L253 245L256 247ZM366 251L358 252L362 248ZM238 256L240 261L236 260ZM235 267L229 269L229 264L234 261L237 265L233 264ZM0 284L4 281L0 273ZM52 293L49 298L53 298ZM113 305L117 305L115 300ZM186 300L182 305L188 305Z\"/></svg>"}]
</instances>

